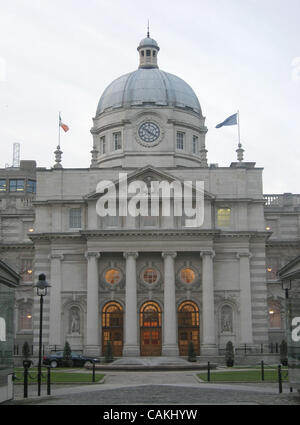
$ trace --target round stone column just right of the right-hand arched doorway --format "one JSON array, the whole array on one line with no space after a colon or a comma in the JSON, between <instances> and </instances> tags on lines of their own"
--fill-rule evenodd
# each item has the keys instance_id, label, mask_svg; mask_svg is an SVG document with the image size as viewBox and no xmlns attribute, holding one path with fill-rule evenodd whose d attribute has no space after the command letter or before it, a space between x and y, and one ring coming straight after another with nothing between
<instances>
[{"instance_id":1,"label":"round stone column just right of the right-hand arched doorway","mask_svg":"<svg viewBox=\"0 0 300 425\"><path fill-rule=\"evenodd\" d=\"M214 251L202 251L202 329L201 355L216 355L215 305L214 305Z\"/></svg>"}]
</instances>

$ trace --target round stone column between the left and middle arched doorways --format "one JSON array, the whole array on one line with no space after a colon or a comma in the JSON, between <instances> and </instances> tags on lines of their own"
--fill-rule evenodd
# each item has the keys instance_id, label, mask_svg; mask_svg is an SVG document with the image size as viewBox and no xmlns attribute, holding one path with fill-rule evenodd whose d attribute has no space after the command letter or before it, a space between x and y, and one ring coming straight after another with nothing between
<instances>
[{"instance_id":1,"label":"round stone column between the left and middle arched doorways","mask_svg":"<svg viewBox=\"0 0 300 425\"><path fill-rule=\"evenodd\" d=\"M124 252L126 258L126 293L125 293L125 342L123 356L136 357L140 355L138 345L138 312L136 287L137 252Z\"/></svg>"}]
</instances>

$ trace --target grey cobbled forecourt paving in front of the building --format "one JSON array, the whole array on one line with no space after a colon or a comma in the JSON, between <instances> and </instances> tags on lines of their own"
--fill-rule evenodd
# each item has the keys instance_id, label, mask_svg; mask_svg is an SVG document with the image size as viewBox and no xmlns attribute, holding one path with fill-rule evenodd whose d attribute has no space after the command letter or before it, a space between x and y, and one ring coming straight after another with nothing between
<instances>
[{"instance_id":1,"label":"grey cobbled forecourt paving in front of the building","mask_svg":"<svg viewBox=\"0 0 300 425\"><path fill-rule=\"evenodd\" d=\"M90 373L90 372L89 372ZM52 385L51 396L37 397L36 385L29 386L29 397L23 399L23 386L15 385L14 400L6 405L176 405L176 404L253 404L300 405L297 391L290 393L283 384L217 384L197 378L199 371L107 372L104 382L90 385Z\"/></svg>"}]
</instances>

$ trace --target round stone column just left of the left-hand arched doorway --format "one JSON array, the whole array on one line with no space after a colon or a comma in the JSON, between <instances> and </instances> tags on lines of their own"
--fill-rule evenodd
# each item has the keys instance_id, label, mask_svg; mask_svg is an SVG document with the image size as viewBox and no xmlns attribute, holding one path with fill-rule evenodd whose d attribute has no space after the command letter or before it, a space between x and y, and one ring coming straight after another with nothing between
<instances>
[{"instance_id":1,"label":"round stone column just left of the left-hand arched doorway","mask_svg":"<svg viewBox=\"0 0 300 425\"><path fill-rule=\"evenodd\" d=\"M98 277L98 252L85 254L87 264L87 313L86 313L86 346L85 354L100 355L99 338L99 277Z\"/></svg>"}]
</instances>

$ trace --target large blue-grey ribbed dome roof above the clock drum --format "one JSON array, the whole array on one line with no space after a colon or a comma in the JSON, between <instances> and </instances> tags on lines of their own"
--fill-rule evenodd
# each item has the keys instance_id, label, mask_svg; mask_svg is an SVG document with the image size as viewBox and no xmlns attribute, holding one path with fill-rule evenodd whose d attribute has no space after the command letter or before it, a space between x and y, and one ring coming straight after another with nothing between
<instances>
[{"instance_id":1,"label":"large blue-grey ribbed dome roof above the clock drum","mask_svg":"<svg viewBox=\"0 0 300 425\"><path fill-rule=\"evenodd\" d=\"M181 78L159 68L139 68L114 80L102 94L96 115L147 104L183 108L202 115L193 89Z\"/></svg>"}]
</instances>

